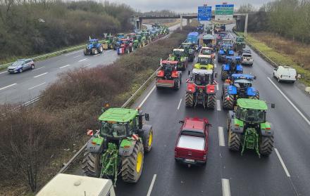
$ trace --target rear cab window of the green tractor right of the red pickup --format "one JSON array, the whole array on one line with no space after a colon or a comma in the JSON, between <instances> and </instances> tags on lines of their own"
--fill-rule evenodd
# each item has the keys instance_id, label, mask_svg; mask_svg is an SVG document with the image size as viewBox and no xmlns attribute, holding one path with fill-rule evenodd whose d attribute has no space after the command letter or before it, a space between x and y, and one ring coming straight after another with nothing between
<instances>
[{"instance_id":1,"label":"rear cab window of the green tractor right of the red pickup","mask_svg":"<svg viewBox=\"0 0 310 196\"><path fill-rule=\"evenodd\" d=\"M250 123L265 122L266 112L264 110L251 110L251 109L238 108L237 113L239 113L237 116L239 116L240 119L244 122L250 122Z\"/></svg>"}]
</instances>

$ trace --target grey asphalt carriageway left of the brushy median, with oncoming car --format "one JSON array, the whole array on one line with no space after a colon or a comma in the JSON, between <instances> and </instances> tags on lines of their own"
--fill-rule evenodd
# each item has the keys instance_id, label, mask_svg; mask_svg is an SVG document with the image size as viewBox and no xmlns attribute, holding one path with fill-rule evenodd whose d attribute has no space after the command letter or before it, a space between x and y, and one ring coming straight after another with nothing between
<instances>
[{"instance_id":1,"label":"grey asphalt carriageway left of the brushy median, with oncoming car","mask_svg":"<svg viewBox=\"0 0 310 196\"><path fill-rule=\"evenodd\" d=\"M185 25L185 20L183 24ZM147 25L149 26L149 25ZM169 29L176 30L179 25ZM35 70L21 74L9 74L0 71L0 104L25 103L39 96L41 91L58 79L58 74L79 67L97 67L109 65L118 58L116 51L104 51L99 55L84 55L83 50L73 51L53 58L35 62Z\"/></svg>"}]
</instances>

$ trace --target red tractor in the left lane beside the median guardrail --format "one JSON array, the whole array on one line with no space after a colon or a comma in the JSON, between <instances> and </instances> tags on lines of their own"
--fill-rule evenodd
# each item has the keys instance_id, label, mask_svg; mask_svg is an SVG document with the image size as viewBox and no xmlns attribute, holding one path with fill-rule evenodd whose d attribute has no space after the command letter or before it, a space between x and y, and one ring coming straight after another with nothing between
<instances>
[{"instance_id":1,"label":"red tractor in the left lane beside the median guardrail","mask_svg":"<svg viewBox=\"0 0 310 196\"><path fill-rule=\"evenodd\" d=\"M177 70L178 61L162 60L161 70L156 75L156 88L180 89L182 73Z\"/></svg>"}]
</instances>

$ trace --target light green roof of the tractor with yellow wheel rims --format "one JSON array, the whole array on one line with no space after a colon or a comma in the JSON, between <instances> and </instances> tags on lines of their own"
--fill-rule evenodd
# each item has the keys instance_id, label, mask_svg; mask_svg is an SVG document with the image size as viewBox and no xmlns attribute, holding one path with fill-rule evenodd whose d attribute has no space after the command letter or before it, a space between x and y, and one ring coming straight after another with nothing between
<instances>
[{"instance_id":1,"label":"light green roof of the tractor with yellow wheel rims","mask_svg":"<svg viewBox=\"0 0 310 196\"><path fill-rule=\"evenodd\" d=\"M110 108L99 117L99 120L109 122L129 122L137 115L137 110L126 108Z\"/></svg>"}]
</instances>

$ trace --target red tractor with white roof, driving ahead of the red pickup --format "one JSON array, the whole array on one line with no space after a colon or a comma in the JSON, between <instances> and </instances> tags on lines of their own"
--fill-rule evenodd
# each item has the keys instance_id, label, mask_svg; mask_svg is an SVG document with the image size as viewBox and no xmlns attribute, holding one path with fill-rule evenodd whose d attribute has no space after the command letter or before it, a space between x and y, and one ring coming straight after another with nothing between
<instances>
[{"instance_id":1,"label":"red tractor with white roof, driving ahead of the red pickup","mask_svg":"<svg viewBox=\"0 0 310 196\"><path fill-rule=\"evenodd\" d=\"M213 70L189 71L190 80L187 81L185 105L196 107L204 105L204 108L214 109L216 106L216 84Z\"/></svg>"}]
</instances>

